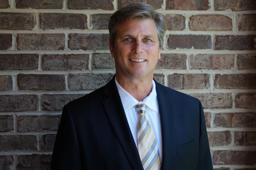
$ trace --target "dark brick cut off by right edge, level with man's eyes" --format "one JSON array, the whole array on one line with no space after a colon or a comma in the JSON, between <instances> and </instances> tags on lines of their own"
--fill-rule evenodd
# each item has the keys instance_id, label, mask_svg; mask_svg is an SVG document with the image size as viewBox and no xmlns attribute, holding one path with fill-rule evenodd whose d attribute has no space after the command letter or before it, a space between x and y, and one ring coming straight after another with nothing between
<instances>
[{"instance_id":1,"label":"dark brick cut off by right edge, level with man's eyes","mask_svg":"<svg viewBox=\"0 0 256 170\"><path fill-rule=\"evenodd\" d=\"M256 35L216 35L215 50L255 50Z\"/></svg>"}]
</instances>

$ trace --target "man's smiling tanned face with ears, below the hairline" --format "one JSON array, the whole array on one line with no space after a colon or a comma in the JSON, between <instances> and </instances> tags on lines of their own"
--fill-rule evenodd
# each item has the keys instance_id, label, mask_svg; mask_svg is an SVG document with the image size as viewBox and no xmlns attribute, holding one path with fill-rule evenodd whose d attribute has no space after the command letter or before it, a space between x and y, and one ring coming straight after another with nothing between
<instances>
[{"instance_id":1,"label":"man's smiling tanned face with ears, below the hairline","mask_svg":"<svg viewBox=\"0 0 256 170\"><path fill-rule=\"evenodd\" d=\"M109 46L117 78L153 78L162 51L154 20L133 19L119 23L115 46L111 43Z\"/></svg>"}]
</instances>

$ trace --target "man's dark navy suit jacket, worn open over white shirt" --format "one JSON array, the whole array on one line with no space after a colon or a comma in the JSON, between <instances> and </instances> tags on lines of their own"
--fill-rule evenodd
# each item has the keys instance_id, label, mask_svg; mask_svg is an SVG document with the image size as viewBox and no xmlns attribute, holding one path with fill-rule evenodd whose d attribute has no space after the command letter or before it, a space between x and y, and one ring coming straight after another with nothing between
<instances>
[{"instance_id":1,"label":"man's dark navy suit jacket, worn open over white shirt","mask_svg":"<svg viewBox=\"0 0 256 170\"><path fill-rule=\"evenodd\" d=\"M212 170L201 102L156 82L161 170ZM64 106L52 170L143 170L114 78Z\"/></svg>"}]
</instances>

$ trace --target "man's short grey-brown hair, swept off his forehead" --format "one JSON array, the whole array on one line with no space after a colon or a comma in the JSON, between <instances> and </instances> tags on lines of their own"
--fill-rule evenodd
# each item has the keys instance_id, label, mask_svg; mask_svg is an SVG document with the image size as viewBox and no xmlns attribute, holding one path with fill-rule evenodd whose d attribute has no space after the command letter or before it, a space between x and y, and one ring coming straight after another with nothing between
<instances>
[{"instance_id":1,"label":"man's short grey-brown hair, swept off his forehead","mask_svg":"<svg viewBox=\"0 0 256 170\"><path fill-rule=\"evenodd\" d=\"M116 27L119 23L129 19L152 19L157 26L157 36L160 48L163 48L163 38L166 31L166 23L163 15L157 13L151 5L145 3L131 3L122 9L117 10L110 17L108 22L109 41L115 46Z\"/></svg>"}]
</instances>

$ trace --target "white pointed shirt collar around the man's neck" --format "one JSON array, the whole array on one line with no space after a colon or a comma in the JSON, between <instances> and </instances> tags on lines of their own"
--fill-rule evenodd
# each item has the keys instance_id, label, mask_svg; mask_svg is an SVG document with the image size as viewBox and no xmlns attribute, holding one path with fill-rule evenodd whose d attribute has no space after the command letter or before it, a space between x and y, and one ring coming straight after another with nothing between
<instances>
[{"instance_id":1,"label":"white pointed shirt collar around the man's neck","mask_svg":"<svg viewBox=\"0 0 256 170\"><path fill-rule=\"evenodd\" d=\"M116 78L115 82L125 111L131 109L138 103L144 103L150 109L158 112L157 91L154 80L152 80L152 90L150 94L141 102L137 101L137 99L135 99L130 93L123 89L122 86L120 86L120 84L116 81Z\"/></svg>"}]
</instances>

